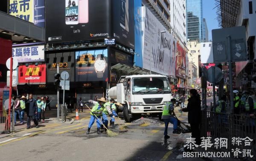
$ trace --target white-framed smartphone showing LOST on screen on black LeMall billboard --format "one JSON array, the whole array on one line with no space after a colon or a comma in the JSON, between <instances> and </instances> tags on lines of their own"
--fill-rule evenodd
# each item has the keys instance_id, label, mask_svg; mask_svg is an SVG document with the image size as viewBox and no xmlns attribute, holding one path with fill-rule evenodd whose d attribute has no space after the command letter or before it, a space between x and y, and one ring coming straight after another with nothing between
<instances>
[{"instance_id":1,"label":"white-framed smartphone showing LOST on screen on black LeMall billboard","mask_svg":"<svg viewBox=\"0 0 256 161\"><path fill-rule=\"evenodd\" d=\"M76 25L79 23L79 3L78 0L66 0L65 3L65 21L67 25Z\"/></svg>"}]
</instances>

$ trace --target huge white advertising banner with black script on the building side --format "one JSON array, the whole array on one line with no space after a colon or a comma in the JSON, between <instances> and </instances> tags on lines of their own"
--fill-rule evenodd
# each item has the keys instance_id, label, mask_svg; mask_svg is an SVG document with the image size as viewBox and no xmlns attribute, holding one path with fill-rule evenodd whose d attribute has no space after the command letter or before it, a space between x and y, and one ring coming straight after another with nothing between
<instances>
[{"instance_id":1,"label":"huge white advertising banner with black script on the building side","mask_svg":"<svg viewBox=\"0 0 256 161\"><path fill-rule=\"evenodd\" d=\"M162 75L175 75L176 40L144 7L143 68ZM165 33L160 33L166 30ZM151 40L151 42L150 42Z\"/></svg>"}]
</instances>

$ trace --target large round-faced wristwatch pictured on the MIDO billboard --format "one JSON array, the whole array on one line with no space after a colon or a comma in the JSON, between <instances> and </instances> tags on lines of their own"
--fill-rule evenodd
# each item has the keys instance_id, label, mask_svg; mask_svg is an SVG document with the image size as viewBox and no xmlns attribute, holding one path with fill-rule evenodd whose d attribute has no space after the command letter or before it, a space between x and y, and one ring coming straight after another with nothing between
<instances>
[{"instance_id":1,"label":"large round-faced wristwatch pictured on the MIDO billboard","mask_svg":"<svg viewBox=\"0 0 256 161\"><path fill-rule=\"evenodd\" d=\"M103 54L99 54L94 62L94 69L97 74L97 78L103 78L104 71L107 67L107 62Z\"/></svg>"}]
</instances>

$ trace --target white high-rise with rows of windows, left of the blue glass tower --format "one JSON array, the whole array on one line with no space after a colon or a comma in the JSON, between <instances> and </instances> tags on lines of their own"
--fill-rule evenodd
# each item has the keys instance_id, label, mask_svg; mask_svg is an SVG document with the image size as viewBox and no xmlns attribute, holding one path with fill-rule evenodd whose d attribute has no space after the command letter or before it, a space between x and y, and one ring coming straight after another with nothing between
<instances>
[{"instance_id":1,"label":"white high-rise with rows of windows, left of the blue glass tower","mask_svg":"<svg viewBox=\"0 0 256 161\"><path fill-rule=\"evenodd\" d=\"M170 0L170 23L186 44L186 0Z\"/></svg>"}]
</instances>

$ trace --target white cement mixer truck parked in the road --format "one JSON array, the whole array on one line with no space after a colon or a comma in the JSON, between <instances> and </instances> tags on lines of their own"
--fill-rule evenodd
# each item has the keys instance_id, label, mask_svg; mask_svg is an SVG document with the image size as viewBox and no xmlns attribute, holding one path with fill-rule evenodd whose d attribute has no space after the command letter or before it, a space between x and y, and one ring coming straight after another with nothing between
<instances>
[{"instance_id":1,"label":"white cement mixer truck parked in the road","mask_svg":"<svg viewBox=\"0 0 256 161\"><path fill-rule=\"evenodd\" d=\"M122 76L109 90L109 97L123 104L119 110L131 122L141 114L161 117L163 106L171 100L171 88L165 75Z\"/></svg>"}]
</instances>

